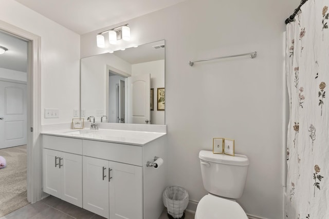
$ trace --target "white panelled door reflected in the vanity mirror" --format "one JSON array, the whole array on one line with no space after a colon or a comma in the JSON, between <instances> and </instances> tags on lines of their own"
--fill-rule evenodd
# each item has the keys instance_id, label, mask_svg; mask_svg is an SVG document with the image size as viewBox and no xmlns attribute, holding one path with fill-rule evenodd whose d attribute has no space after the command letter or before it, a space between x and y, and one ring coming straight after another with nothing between
<instances>
[{"instance_id":1,"label":"white panelled door reflected in the vanity mirror","mask_svg":"<svg viewBox=\"0 0 329 219\"><path fill-rule=\"evenodd\" d=\"M128 122L150 124L150 74L128 77Z\"/></svg>"}]
</instances>

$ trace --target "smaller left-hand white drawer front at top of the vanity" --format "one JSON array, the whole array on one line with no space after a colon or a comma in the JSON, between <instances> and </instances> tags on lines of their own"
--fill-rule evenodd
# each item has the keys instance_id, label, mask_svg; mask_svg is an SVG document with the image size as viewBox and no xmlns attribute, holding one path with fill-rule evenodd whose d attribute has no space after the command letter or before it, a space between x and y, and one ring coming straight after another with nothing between
<instances>
[{"instance_id":1,"label":"smaller left-hand white drawer front at top of the vanity","mask_svg":"<svg viewBox=\"0 0 329 219\"><path fill-rule=\"evenodd\" d=\"M78 138L42 135L42 146L52 150L82 154L82 140Z\"/></svg>"}]
</instances>

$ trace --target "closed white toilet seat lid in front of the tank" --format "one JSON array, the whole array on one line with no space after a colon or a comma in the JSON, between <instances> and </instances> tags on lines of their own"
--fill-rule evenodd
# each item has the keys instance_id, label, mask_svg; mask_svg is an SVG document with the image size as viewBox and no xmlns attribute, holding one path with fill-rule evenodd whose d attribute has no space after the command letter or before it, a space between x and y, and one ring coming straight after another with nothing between
<instances>
[{"instance_id":1,"label":"closed white toilet seat lid in front of the tank","mask_svg":"<svg viewBox=\"0 0 329 219\"><path fill-rule=\"evenodd\" d=\"M215 195L201 198L195 211L195 219L248 219L242 207L236 202Z\"/></svg>"}]
</instances>

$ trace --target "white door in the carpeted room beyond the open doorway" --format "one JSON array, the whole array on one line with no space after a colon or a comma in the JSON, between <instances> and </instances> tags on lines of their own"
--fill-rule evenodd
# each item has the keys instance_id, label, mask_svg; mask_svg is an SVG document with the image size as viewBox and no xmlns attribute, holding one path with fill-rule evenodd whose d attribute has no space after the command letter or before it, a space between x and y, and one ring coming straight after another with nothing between
<instances>
[{"instance_id":1,"label":"white door in the carpeted room beyond the open doorway","mask_svg":"<svg viewBox=\"0 0 329 219\"><path fill-rule=\"evenodd\" d=\"M26 145L26 84L0 81L0 149Z\"/></svg>"}]
</instances>

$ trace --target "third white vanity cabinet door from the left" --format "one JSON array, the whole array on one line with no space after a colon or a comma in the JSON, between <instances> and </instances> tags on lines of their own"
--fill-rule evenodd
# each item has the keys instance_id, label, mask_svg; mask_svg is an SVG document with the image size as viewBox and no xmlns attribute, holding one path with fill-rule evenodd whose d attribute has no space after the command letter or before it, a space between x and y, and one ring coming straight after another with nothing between
<instances>
[{"instance_id":1,"label":"third white vanity cabinet door from the left","mask_svg":"<svg viewBox=\"0 0 329 219\"><path fill-rule=\"evenodd\" d=\"M83 156L83 208L108 218L108 161Z\"/></svg>"}]
</instances>

